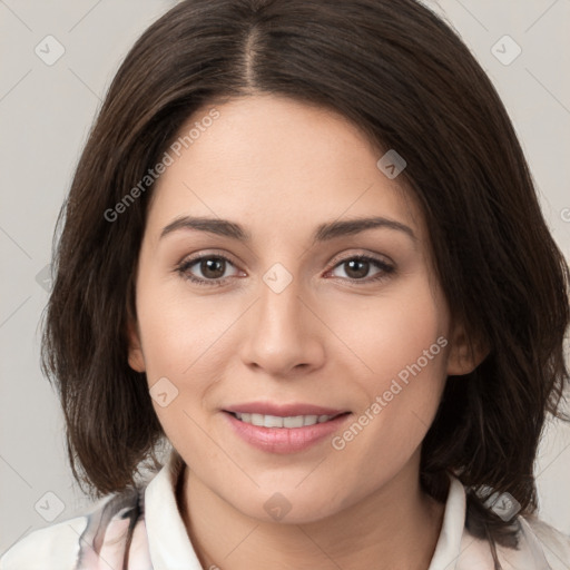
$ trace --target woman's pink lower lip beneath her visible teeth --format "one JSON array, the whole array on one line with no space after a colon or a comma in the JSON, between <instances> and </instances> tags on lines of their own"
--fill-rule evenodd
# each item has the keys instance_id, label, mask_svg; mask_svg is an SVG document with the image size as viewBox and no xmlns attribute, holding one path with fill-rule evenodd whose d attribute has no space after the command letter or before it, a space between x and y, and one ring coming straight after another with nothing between
<instances>
[{"instance_id":1,"label":"woman's pink lower lip beneath her visible teeth","mask_svg":"<svg viewBox=\"0 0 570 570\"><path fill-rule=\"evenodd\" d=\"M303 428L264 428L242 422L229 412L224 412L224 415L235 433L254 448L269 453L295 453L315 445L337 431L351 414Z\"/></svg>"}]
</instances>

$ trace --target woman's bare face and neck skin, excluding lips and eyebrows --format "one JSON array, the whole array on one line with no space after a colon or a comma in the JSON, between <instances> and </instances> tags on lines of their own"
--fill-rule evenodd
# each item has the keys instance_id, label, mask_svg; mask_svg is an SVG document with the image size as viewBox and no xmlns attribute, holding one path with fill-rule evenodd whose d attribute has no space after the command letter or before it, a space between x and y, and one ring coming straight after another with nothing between
<instances>
[{"instance_id":1,"label":"woman's bare face and neck skin, excluding lips and eyebrows","mask_svg":"<svg viewBox=\"0 0 570 570\"><path fill-rule=\"evenodd\" d=\"M129 333L129 364L149 387L167 377L178 390L154 405L187 465L180 510L200 562L425 570L443 505L420 488L421 443L446 375L472 371L483 355L468 356L450 321L423 216L401 179L376 167L382 153L333 111L269 95L216 109L154 190ZM160 238L190 215L229 219L252 239L195 229ZM312 243L320 224L370 216L405 224L415 239L381 227ZM216 254L230 263L177 271ZM394 271L341 263L362 254ZM276 263L293 279L281 293L263 281ZM224 282L198 285L189 274ZM302 402L351 411L354 421L442 336L446 346L343 450L326 438L292 454L261 451L222 412ZM279 521L264 509L276 492L291 505Z\"/></svg>"}]
</instances>

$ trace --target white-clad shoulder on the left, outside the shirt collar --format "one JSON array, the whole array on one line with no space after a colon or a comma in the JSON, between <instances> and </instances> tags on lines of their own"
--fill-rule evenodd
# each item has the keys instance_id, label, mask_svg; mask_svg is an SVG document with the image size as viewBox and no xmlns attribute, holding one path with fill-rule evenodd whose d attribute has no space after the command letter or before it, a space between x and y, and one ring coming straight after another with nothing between
<instances>
[{"instance_id":1,"label":"white-clad shoulder on the left, outside the shirt collar","mask_svg":"<svg viewBox=\"0 0 570 570\"><path fill-rule=\"evenodd\" d=\"M141 515L141 502L137 490L104 497L86 514L36 530L18 541L0 558L0 570L88 568L99 559L106 542L124 543Z\"/></svg>"}]
</instances>

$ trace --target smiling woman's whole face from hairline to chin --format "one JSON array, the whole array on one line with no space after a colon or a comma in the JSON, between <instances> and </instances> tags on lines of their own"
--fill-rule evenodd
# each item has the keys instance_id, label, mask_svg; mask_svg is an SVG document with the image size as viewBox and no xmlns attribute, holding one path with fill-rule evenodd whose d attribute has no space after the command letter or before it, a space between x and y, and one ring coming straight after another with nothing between
<instances>
[{"instance_id":1,"label":"smiling woman's whole face from hairline to chin","mask_svg":"<svg viewBox=\"0 0 570 570\"><path fill-rule=\"evenodd\" d=\"M154 190L129 362L193 476L249 517L318 520L416 479L472 366L421 212L352 124L275 96L209 109Z\"/></svg>"}]
</instances>

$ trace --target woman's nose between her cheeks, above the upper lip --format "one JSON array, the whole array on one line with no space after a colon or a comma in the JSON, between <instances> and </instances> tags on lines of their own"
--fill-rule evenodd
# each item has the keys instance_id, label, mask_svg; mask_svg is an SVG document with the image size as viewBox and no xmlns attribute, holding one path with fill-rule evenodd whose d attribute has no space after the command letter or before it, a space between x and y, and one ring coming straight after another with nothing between
<instances>
[{"instance_id":1,"label":"woman's nose between her cheeks, above the upper lip","mask_svg":"<svg viewBox=\"0 0 570 570\"><path fill-rule=\"evenodd\" d=\"M307 374L325 360L325 325L295 279L281 293L261 283L259 297L244 323L242 360L275 377Z\"/></svg>"}]
</instances>

